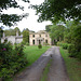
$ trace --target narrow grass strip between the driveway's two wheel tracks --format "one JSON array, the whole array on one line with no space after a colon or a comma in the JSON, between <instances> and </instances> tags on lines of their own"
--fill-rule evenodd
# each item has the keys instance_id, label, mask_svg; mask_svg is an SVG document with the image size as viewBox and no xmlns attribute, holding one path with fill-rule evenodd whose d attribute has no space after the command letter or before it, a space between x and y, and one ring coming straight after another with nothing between
<instances>
[{"instance_id":1,"label":"narrow grass strip between the driveway's two wheel tracks","mask_svg":"<svg viewBox=\"0 0 81 81\"><path fill-rule=\"evenodd\" d=\"M43 70L43 73L42 73L42 77L41 77L41 80L40 81L48 81L48 73L49 73L49 70L50 70L50 66L51 66L51 63L52 63L52 59L49 60L46 67L44 68Z\"/></svg>"}]
</instances>

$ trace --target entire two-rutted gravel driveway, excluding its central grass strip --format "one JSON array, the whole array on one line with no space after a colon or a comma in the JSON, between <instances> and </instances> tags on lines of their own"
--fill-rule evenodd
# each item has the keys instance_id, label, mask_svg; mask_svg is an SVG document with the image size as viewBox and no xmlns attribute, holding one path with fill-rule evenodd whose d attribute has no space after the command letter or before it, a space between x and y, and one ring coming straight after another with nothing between
<instances>
[{"instance_id":1,"label":"entire two-rutted gravel driveway, excluding its central grass strip","mask_svg":"<svg viewBox=\"0 0 81 81\"><path fill-rule=\"evenodd\" d=\"M45 68L48 62L51 59L51 55L53 60L50 67L50 72L48 75L48 81L69 81L64 60L57 46L49 49L30 67L26 68L22 73L17 75L14 78L14 81L40 81L43 69Z\"/></svg>"}]
</instances>

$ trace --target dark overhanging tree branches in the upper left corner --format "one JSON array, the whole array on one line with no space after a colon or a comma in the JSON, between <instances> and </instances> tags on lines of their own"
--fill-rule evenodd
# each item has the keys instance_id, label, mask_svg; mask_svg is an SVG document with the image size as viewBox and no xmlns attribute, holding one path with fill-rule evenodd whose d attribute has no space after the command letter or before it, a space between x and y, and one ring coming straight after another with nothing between
<instances>
[{"instance_id":1,"label":"dark overhanging tree branches in the upper left corner","mask_svg":"<svg viewBox=\"0 0 81 81\"><path fill-rule=\"evenodd\" d=\"M29 0L22 0L24 2L29 2ZM3 10L8 10L9 8L18 8L24 11L24 6L17 4L16 0L0 0L0 23L5 26L13 26L16 22L22 21L23 17L26 17L28 14L3 14Z\"/></svg>"}]
</instances>

